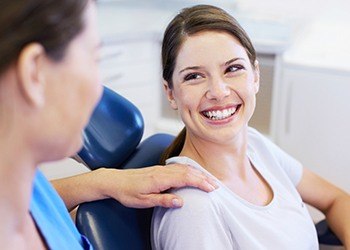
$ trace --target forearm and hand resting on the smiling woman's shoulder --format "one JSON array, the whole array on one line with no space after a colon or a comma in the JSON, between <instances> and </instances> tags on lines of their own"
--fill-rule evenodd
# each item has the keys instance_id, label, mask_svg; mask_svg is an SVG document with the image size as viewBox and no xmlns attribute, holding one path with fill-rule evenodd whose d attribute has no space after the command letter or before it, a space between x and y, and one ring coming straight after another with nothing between
<instances>
[{"instance_id":1,"label":"forearm and hand resting on the smiling woman's shoulder","mask_svg":"<svg viewBox=\"0 0 350 250\"><path fill-rule=\"evenodd\" d=\"M217 188L215 181L189 166L172 164L140 169L100 168L88 173L53 180L53 186L69 211L82 202L114 198L128 207L180 207L183 200L162 193L169 188L193 186L206 192Z\"/></svg>"}]
</instances>

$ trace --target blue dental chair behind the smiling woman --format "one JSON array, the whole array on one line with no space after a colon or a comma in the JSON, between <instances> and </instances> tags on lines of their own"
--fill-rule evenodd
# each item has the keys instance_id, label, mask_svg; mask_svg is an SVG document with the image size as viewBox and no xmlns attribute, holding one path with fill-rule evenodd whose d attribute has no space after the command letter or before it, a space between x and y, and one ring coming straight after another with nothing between
<instances>
[{"instance_id":1,"label":"blue dental chair behind the smiling woman","mask_svg":"<svg viewBox=\"0 0 350 250\"><path fill-rule=\"evenodd\" d=\"M140 143L143 126L142 115L132 103L104 88L84 131L84 146L78 158L90 169L157 165L174 137L156 134ZM87 202L78 208L76 225L94 249L148 250L152 211L127 208L113 199ZM325 221L316 228L321 244L341 245Z\"/></svg>"}]
</instances>

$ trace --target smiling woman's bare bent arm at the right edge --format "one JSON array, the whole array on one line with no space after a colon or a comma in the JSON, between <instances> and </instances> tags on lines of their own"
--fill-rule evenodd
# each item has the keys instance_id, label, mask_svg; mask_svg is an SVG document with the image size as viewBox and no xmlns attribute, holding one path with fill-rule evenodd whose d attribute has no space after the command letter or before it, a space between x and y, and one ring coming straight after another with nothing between
<instances>
[{"instance_id":1,"label":"smiling woman's bare bent arm at the right edge","mask_svg":"<svg viewBox=\"0 0 350 250\"><path fill-rule=\"evenodd\" d=\"M304 168L297 187L302 199L326 215L346 249L350 249L350 195Z\"/></svg>"}]
</instances>

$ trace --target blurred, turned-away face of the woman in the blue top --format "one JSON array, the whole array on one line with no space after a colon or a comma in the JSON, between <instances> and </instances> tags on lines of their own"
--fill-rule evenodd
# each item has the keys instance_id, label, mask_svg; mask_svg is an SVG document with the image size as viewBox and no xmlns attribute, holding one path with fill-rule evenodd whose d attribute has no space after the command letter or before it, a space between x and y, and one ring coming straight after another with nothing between
<instances>
[{"instance_id":1,"label":"blurred, turned-away face of the woman in the blue top","mask_svg":"<svg viewBox=\"0 0 350 250\"><path fill-rule=\"evenodd\" d=\"M73 155L80 149L82 130L102 93L95 11L95 4L89 1L84 14L85 28L68 46L63 60L48 59L45 120L51 128L46 129L50 142L58 150L55 158Z\"/></svg>"}]
</instances>

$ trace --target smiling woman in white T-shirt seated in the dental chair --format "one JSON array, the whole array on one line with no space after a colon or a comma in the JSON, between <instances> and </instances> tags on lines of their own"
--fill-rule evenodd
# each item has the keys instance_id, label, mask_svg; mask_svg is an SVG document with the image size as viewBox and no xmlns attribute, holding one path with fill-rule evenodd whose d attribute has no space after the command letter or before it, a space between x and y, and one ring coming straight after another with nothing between
<instances>
[{"instance_id":1,"label":"smiling woman in white T-shirt seated in the dental chair","mask_svg":"<svg viewBox=\"0 0 350 250\"><path fill-rule=\"evenodd\" d=\"M155 210L154 249L318 249L304 202L349 244L349 195L248 126L259 64L232 16L209 5L183 9L165 31L162 59L167 98L185 124L163 161L194 165L220 188L172 190L185 203Z\"/></svg>"}]
</instances>

